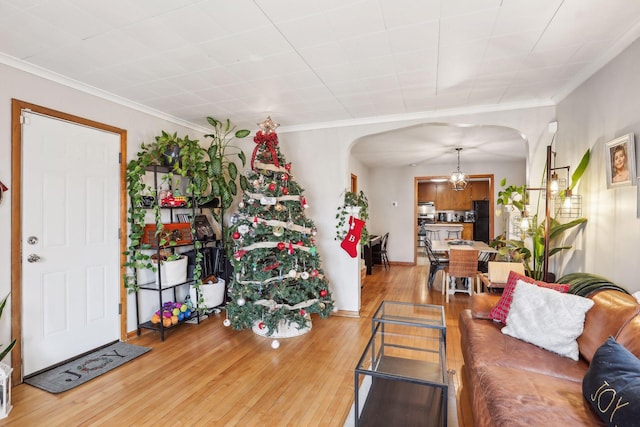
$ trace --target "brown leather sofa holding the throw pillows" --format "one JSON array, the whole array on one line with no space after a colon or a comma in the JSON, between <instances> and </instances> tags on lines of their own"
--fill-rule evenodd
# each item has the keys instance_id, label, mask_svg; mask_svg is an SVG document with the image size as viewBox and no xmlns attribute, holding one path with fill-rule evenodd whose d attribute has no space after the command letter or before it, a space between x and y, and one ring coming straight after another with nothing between
<instances>
[{"instance_id":1,"label":"brown leather sofa holding the throw pillows","mask_svg":"<svg viewBox=\"0 0 640 427\"><path fill-rule=\"evenodd\" d=\"M488 318L499 295L474 294L460 314L463 390L476 427L604 425L582 394L582 379L595 351L613 336L640 357L640 306L632 296L601 290L571 360L500 331Z\"/></svg>"}]
</instances>

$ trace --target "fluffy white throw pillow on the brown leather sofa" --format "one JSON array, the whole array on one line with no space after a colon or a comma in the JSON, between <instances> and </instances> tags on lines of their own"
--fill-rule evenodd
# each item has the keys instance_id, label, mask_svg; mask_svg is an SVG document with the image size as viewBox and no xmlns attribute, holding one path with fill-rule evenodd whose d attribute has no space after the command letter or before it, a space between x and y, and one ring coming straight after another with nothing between
<instances>
[{"instance_id":1,"label":"fluffy white throw pillow on the brown leather sofa","mask_svg":"<svg viewBox=\"0 0 640 427\"><path fill-rule=\"evenodd\" d=\"M576 339L593 301L518 280L502 333L578 360Z\"/></svg>"}]
</instances>

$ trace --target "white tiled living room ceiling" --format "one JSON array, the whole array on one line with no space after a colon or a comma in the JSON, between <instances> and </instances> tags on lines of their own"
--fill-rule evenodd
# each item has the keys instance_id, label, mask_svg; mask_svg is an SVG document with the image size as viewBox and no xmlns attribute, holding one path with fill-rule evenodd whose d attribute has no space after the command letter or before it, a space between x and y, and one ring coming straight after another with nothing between
<instances>
[{"instance_id":1,"label":"white tiled living room ceiling","mask_svg":"<svg viewBox=\"0 0 640 427\"><path fill-rule=\"evenodd\" d=\"M550 105L639 23L638 0L0 0L0 62L195 126L286 131Z\"/></svg>"}]
</instances>

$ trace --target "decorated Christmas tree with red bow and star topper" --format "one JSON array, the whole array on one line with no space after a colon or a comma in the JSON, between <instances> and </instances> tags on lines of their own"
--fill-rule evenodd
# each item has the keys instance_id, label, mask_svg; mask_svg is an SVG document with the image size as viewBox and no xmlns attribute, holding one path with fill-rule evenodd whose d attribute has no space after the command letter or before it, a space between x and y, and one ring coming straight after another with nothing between
<instances>
[{"instance_id":1,"label":"decorated Christmas tree with red bow and star topper","mask_svg":"<svg viewBox=\"0 0 640 427\"><path fill-rule=\"evenodd\" d=\"M328 317L334 302L316 248L317 230L305 216L304 189L278 147L278 125L268 117L259 126L249 188L228 228L233 275L225 325L276 338L296 336L309 331L311 314Z\"/></svg>"}]
</instances>

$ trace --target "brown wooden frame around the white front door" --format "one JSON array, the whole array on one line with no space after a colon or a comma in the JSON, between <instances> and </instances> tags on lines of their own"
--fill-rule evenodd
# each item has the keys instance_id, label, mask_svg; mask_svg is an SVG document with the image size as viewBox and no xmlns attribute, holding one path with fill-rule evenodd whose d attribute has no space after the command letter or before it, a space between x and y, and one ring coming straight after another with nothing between
<instances>
[{"instance_id":1,"label":"brown wooden frame around the white front door","mask_svg":"<svg viewBox=\"0 0 640 427\"><path fill-rule=\"evenodd\" d=\"M120 135L120 339L127 339L127 292L124 289L124 251L126 250L126 158L127 131L104 123L11 99L11 336L16 346L11 352L13 384L22 382L22 127L23 109L68 122Z\"/></svg>"}]
</instances>

